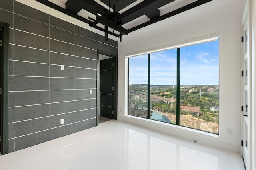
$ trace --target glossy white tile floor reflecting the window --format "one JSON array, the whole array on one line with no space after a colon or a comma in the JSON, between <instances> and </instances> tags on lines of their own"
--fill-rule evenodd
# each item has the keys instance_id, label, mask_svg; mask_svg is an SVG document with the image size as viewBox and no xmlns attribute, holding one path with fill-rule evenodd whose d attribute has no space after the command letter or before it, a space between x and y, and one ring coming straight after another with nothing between
<instances>
[{"instance_id":1,"label":"glossy white tile floor reflecting the window","mask_svg":"<svg viewBox=\"0 0 256 170\"><path fill-rule=\"evenodd\" d=\"M0 170L244 170L239 154L111 120L0 156Z\"/></svg>"}]
</instances>

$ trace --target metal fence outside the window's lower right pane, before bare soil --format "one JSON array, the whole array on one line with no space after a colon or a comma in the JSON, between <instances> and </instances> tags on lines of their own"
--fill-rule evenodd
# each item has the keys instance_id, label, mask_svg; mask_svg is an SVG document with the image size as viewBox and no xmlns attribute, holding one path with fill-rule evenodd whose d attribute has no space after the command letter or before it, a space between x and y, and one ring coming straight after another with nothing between
<instances>
[{"instance_id":1,"label":"metal fence outside the window's lower right pane, before bare soil","mask_svg":"<svg viewBox=\"0 0 256 170\"><path fill-rule=\"evenodd\" d=\"M206 131L214 134L219 134L219 128L209 125L207 123L202 123L187 117L180 116L180 124L190 127L192 129L198 129L200 131Z\"/></svg>"}]
</instances>

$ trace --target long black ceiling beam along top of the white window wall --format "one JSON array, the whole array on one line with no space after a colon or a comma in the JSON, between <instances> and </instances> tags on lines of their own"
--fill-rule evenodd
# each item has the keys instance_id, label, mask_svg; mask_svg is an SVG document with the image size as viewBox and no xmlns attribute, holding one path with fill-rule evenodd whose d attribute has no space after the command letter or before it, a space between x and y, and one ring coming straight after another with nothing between
<instances>
[{"instance_id":1,"label":"long black ceiling beam along top of the white window wall","mask_svg":"<svg viewBox=\"0 0 256 170\"><path fill-rule=\"evenodd\" d=\"M153 20L150 20L150 21L147 21L147 22L145 22L145 23L142 23L142 24L140 24L140 25L138 25L138 26L136 26L136 27L133 27L133 28L131 28L131 29L128 29L128 32L130 33L130 32L132 32L132 31L136 31L136 30L138 30L138 29L140 29L140 28L146 27L146 26L151 25L151 24L153 24L153 23L156 23L156 22L158 22L158 21L162 21L162 20L164 20L164 19L166 19L166 18L175 16L175 15L177 15L177 14L180 14L180 13L182 13L182 12L185 12L185 11L187 11L187 10L190 10L190 9L192 9L192 8L195 8L195 7L197 7L197 6L200 6L200 5L205 4L205 3L207 3L207 2L210 2L210 1L212 1L212 0L198 0L198 1L196 1L196 2L193 2L193 3L191 3L191 4L188 4L188 5L183 6L183 7L181 7L181 8L178 8L177 10L174 10L174 11L172 11L172 12L169 12L169 13L167 13L167 14L164 14L163 16L160 16L160 17L155 18L155 19L153 19Z\"/></svg>"}]
</instances>

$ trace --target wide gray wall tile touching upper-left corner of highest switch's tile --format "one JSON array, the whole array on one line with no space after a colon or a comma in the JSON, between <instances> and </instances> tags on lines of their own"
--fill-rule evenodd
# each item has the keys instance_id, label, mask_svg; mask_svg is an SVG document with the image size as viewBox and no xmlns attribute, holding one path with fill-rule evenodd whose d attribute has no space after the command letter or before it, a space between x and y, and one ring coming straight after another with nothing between
<instances>
[{"instance_id":1,"label":"wide gray wall tile touching upper-left corner of highest switch's tile","mask_svg":"<svg viewBox=\"0 0 256 170\"><path fill-rule=\"evenodd\" d=\"M49 52L15 45L14 59L36 63L49 63Z\"/></svg>"}]
</instances>

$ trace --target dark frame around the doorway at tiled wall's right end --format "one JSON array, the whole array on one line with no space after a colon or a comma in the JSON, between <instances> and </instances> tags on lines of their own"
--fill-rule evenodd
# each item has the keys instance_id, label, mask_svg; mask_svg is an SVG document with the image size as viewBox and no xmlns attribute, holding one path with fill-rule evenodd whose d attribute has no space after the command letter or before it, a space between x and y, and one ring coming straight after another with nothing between
<instances>
[{"instance_id":1,"label":"dark frame around the doorway at tiled wall's right end","mask_svg":"<svg viewBox=\"0 0 256 170\"><path fill-rule=\"evenodd\" d=\"M113 119L117 119L117 70L118 70L118 55L102 51L102 50L97 50L97 109L96 109L96 115L97 115L97 121L96 124L97 126L99 125L99 113L100 113L100 60L99 57L101 55L106 55L108 57L112 57L114 61L114 69L113 69L113 84L114 84L114 90L113 90Z\"/></svg>"}]
</instances>

